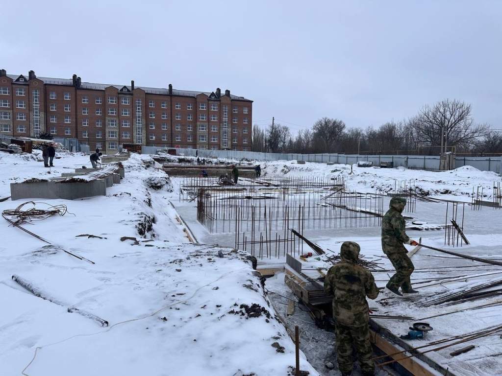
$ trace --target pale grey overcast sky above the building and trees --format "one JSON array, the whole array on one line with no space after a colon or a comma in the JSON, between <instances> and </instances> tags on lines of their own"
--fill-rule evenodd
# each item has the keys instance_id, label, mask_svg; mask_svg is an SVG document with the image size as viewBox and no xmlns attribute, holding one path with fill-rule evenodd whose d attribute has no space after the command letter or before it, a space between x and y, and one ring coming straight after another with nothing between
<instances>
[{"instance_id":1,"label":"pale grey overcast sky above the building and trees","mask_svg":"<svg viewBox=\"0 0 502 376\"><path fill-rule=\"evenodd\" d=\"M253 123L378 126L458 98L502 128L502 2L7 1L10 74L212 91Z\"/></svg>"}]
</instances>

